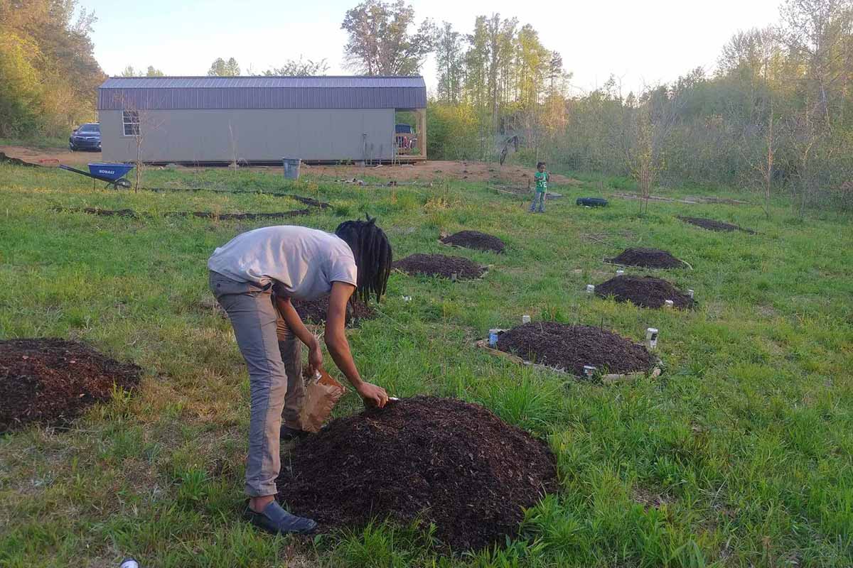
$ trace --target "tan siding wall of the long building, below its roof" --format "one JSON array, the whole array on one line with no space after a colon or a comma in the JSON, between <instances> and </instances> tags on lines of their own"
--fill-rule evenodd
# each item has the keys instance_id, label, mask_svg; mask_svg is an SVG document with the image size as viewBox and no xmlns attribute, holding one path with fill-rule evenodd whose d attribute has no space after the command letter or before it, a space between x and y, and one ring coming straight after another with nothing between
<instances>
[{"instance_id":1,"label":"tan siding wall of the long building, below its roof","mask_svg":"<svg viewBox=\"0 0 853 568\"><path fill-rule=\"evenodd\" d=\"M101 111L103 159L136 160L122 113ZM141 111L143 162L391 159L393 109Z\"/></svg>"}]
</instances>

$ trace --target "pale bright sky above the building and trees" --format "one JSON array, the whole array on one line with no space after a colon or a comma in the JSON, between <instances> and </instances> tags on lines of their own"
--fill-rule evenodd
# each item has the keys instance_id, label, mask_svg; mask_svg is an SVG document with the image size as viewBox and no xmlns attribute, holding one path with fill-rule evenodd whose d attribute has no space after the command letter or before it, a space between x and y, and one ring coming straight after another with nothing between
<instances>
[{"instance_id":1,"label":"pale bright sky above the building and trees","mask_svg":"<svg viewBox=\"0 0 853 568\"><path fill-rule=\"evenodd\" d=\"M217 57L235 57L244 74L284 60L326 58L329 74L343 65L340 22L358 0L80 0L98 21L95 55L108 75L127 65L153 65L167 75L204 75ZM697 66L711 72L734 32L775 24L780 0L413 0L415 19L449 21L473 30L478 14L497 12L532 24L547 49L560 52L577 90L611 74L625 92L665 83ZM251 68L250 68L251 66ZM434 89L435 65L421 70Z\"/></svg>"}]
</instances>

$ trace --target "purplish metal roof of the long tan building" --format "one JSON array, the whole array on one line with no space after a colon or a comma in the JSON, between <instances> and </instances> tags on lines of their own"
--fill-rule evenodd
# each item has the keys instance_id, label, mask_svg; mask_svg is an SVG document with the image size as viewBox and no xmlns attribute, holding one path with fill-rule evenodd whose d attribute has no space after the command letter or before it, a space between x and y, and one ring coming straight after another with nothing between
<instances>
[{"instance_id":1,"label":"purplish metal roof of the long tan building","mask_svg":"<svg viewBox=\"0 0 853 568\"><path fill-rule=\"evenodd\" d=\"M98 110L425 108L423 77L110 77Z\"/></svg>"}]
</instances>

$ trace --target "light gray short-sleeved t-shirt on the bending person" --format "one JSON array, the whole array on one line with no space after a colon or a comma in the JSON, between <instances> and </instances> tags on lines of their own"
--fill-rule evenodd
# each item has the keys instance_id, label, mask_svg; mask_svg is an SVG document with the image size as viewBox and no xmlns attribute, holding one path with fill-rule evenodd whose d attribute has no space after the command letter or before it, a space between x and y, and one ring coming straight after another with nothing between
<instances>
[{"instance_id":1,"label":"light gray short-sleeved t-shirt on the bending person","mask_svg":"<svg viewBox=\"0 0 853 568\"><path fill-rule=\"evenodd\" d=\"M244 232L213 251L207 267L237 282L276 284L276 292L314 300L333 282L357 284L350 245L333 234L282 225Z\"/></svg>"}]
</instances>

